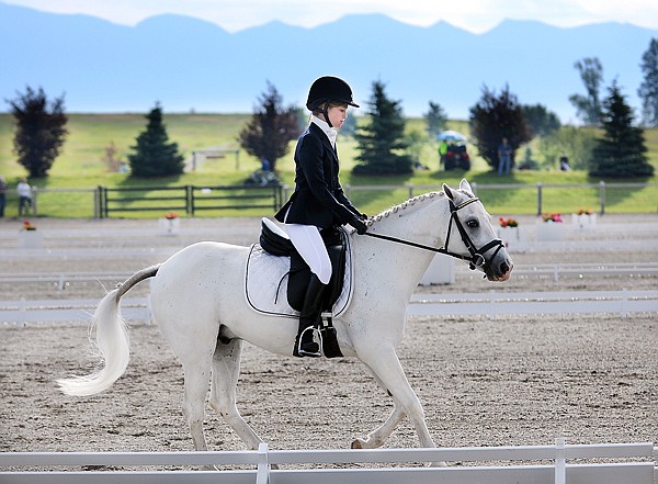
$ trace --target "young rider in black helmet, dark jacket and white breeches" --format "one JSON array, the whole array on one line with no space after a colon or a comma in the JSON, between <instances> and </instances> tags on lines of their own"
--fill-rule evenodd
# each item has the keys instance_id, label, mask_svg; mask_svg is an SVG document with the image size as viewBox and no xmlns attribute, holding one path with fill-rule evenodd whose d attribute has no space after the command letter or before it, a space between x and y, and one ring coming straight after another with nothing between
<instances>
[{"instance_id":1,"label":"young rider in black helmet, dark jacket and white breeches","mask_svg":"<svg viewBox=\"0 0 658 484\"><path fill-rule=\"evenodd\" d=\"M313 82L306 101L310 123L295 148L295 191L275 215L285 224L291 241L311 272L293 349L296 357L320 356L313 327L321 317L325 290L331 278L331 261L320 232L344 224L356 228L360 235L367 230L363 222L367 216L352 205L338 179L336 136L350 105L359 108L344 80L325 76Z\"/></svg>"}]
</instances>

